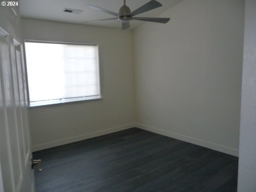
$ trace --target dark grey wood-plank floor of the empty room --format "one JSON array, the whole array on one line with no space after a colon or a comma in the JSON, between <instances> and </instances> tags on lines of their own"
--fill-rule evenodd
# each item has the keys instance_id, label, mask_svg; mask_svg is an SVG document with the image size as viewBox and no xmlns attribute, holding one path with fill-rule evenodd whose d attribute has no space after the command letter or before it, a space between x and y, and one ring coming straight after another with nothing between
<instances>
[{"instance_id":1,"label":"dark grey wood-plank floor of the empty room","mask_svg":"<svg viewBox=\"0 0 256 192\"><path fill-rule=\"evenodd\" d=\"M236 192L238 158L131 128L38 152L37 192Z\"/></svg>"}]
</instances>

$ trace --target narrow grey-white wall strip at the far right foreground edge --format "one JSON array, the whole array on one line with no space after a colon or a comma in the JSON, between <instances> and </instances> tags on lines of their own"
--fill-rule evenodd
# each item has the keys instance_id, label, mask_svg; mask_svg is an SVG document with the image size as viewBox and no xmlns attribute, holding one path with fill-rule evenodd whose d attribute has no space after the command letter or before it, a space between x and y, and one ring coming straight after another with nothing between
<instances>
[{"instance_id":1,"label":"narrow grey-white wall strip at the far right foreground edge","mask_svg":"<svg viewBox=\"0 0 256 192\"><path fill-rule=\"evenodd\" d=\"M256 191L256 1L246 0L238 192Z\"/></svg>"}]
</instances>

